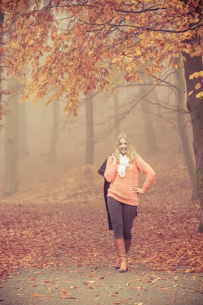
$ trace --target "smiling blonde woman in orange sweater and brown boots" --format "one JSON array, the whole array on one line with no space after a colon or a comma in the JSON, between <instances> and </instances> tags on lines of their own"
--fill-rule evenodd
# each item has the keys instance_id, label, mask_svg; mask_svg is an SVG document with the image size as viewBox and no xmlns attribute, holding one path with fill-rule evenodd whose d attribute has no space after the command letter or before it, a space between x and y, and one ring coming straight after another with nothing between
<instances>
[{"instance_id":1,"label":"smiling blonde woman in orange sweater and brown boots","mask_svg":"<svg viewBox=\"0 0 203 305\"><path fill-rule=\"evenodd\" d=\"M142 189L138 188L140 170L147 175ZM127 252L132 241L131 228L137 212L138 196L150 188L155 172L136 154L130 138L123 133L117 137L115 153L108 158L104 176L111 183L107 202L118 254L115 268L119 269L119 272L126 272Z\"/></svg>"}]
</instances>

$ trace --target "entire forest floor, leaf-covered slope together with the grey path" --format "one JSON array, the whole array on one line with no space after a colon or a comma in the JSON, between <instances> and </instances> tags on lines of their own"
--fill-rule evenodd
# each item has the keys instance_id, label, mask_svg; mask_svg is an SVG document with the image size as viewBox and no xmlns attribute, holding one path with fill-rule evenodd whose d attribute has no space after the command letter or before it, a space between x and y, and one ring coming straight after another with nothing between
<instances>
[{"instance_id":1,"label":"entire forest floor, leaf-covered slope together with the grey path","mask_svg":"<svg viewBox=\"0 0 203 305\"><path fill-rule=\"evenodd\" d=\"M156 178L140 195L126 273L114 268L97 169L88 178L25 159L18 193L1 197L1 304L202 304L200 208L181 157L145 158Z\"/></svg>"}]
</instances>

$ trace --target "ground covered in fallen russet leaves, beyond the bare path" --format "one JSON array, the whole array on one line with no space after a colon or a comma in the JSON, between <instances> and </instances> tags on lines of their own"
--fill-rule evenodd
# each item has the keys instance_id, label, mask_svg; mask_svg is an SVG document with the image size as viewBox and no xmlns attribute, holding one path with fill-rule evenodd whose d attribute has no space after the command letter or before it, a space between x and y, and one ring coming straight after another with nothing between
<instances>
[{"instance_id":1,"label":"ground covered in fallen russet leaves, beyond the bare path","mask_svg":"<svg viewBox=\"0 0 203 305\"><path fill-rule=\"evenodd\" d=\"M200 208L198 201L190 201L181 157L154 155L145 160L155 169L156 179L140 195L129 262L169 273L203 271L203 235L196 234ZM96 168L88 178L83 170L63 165L57 173L54 167L35 170L27 165L20 174L19 192L1 198L2 279L21 266L113 267L116 253L103 184Z\"/></svg>"}]
</instances>

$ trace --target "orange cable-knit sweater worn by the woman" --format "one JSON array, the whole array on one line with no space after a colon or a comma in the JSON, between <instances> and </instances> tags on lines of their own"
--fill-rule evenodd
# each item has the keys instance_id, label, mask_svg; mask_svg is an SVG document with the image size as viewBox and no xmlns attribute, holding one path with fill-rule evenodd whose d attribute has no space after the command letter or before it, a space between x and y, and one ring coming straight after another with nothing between
<instances>
[{"instance_id":1,"label":"orange cable-knit sweater worn by the woman","mask_svg":"<svg viewBox=\"0 0 203 305\"><path fill-rule=\"evenodd\" d=\"M133 193L134 191L132 191L132 186L138 186L139 173L141 170L147 175L142 187L142 194L144 194L154 181L154 170L139 155L137 155L133 162L129 162L129 166L126 168L125 177L120 177L118 174L119 163L113 164L113 161L113 157L110 156L104 174L107 181L111 182L107 196L123 203L138 205L139 193Z\"/></svg>"}]
</instances>

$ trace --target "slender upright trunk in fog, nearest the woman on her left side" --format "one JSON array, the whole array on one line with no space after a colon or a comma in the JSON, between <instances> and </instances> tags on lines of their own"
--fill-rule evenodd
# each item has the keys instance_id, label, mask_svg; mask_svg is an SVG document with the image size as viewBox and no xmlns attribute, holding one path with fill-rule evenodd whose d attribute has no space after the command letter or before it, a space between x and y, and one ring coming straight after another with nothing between
<instances>
[{"instance_id":1,"label":"slender upright trunk in fog, nearest the woman on her left side","mask_svg":"<svg viewBox=\"0 0 203 305\"><path fill-rule=\"evenodd\" d=\"M92 93L86 97L86 152L85 165L92 165L94 162L94 129L93 129L93 98ZM85 171L87 174L88 171Z\"/></svg>"}]
</instances>

